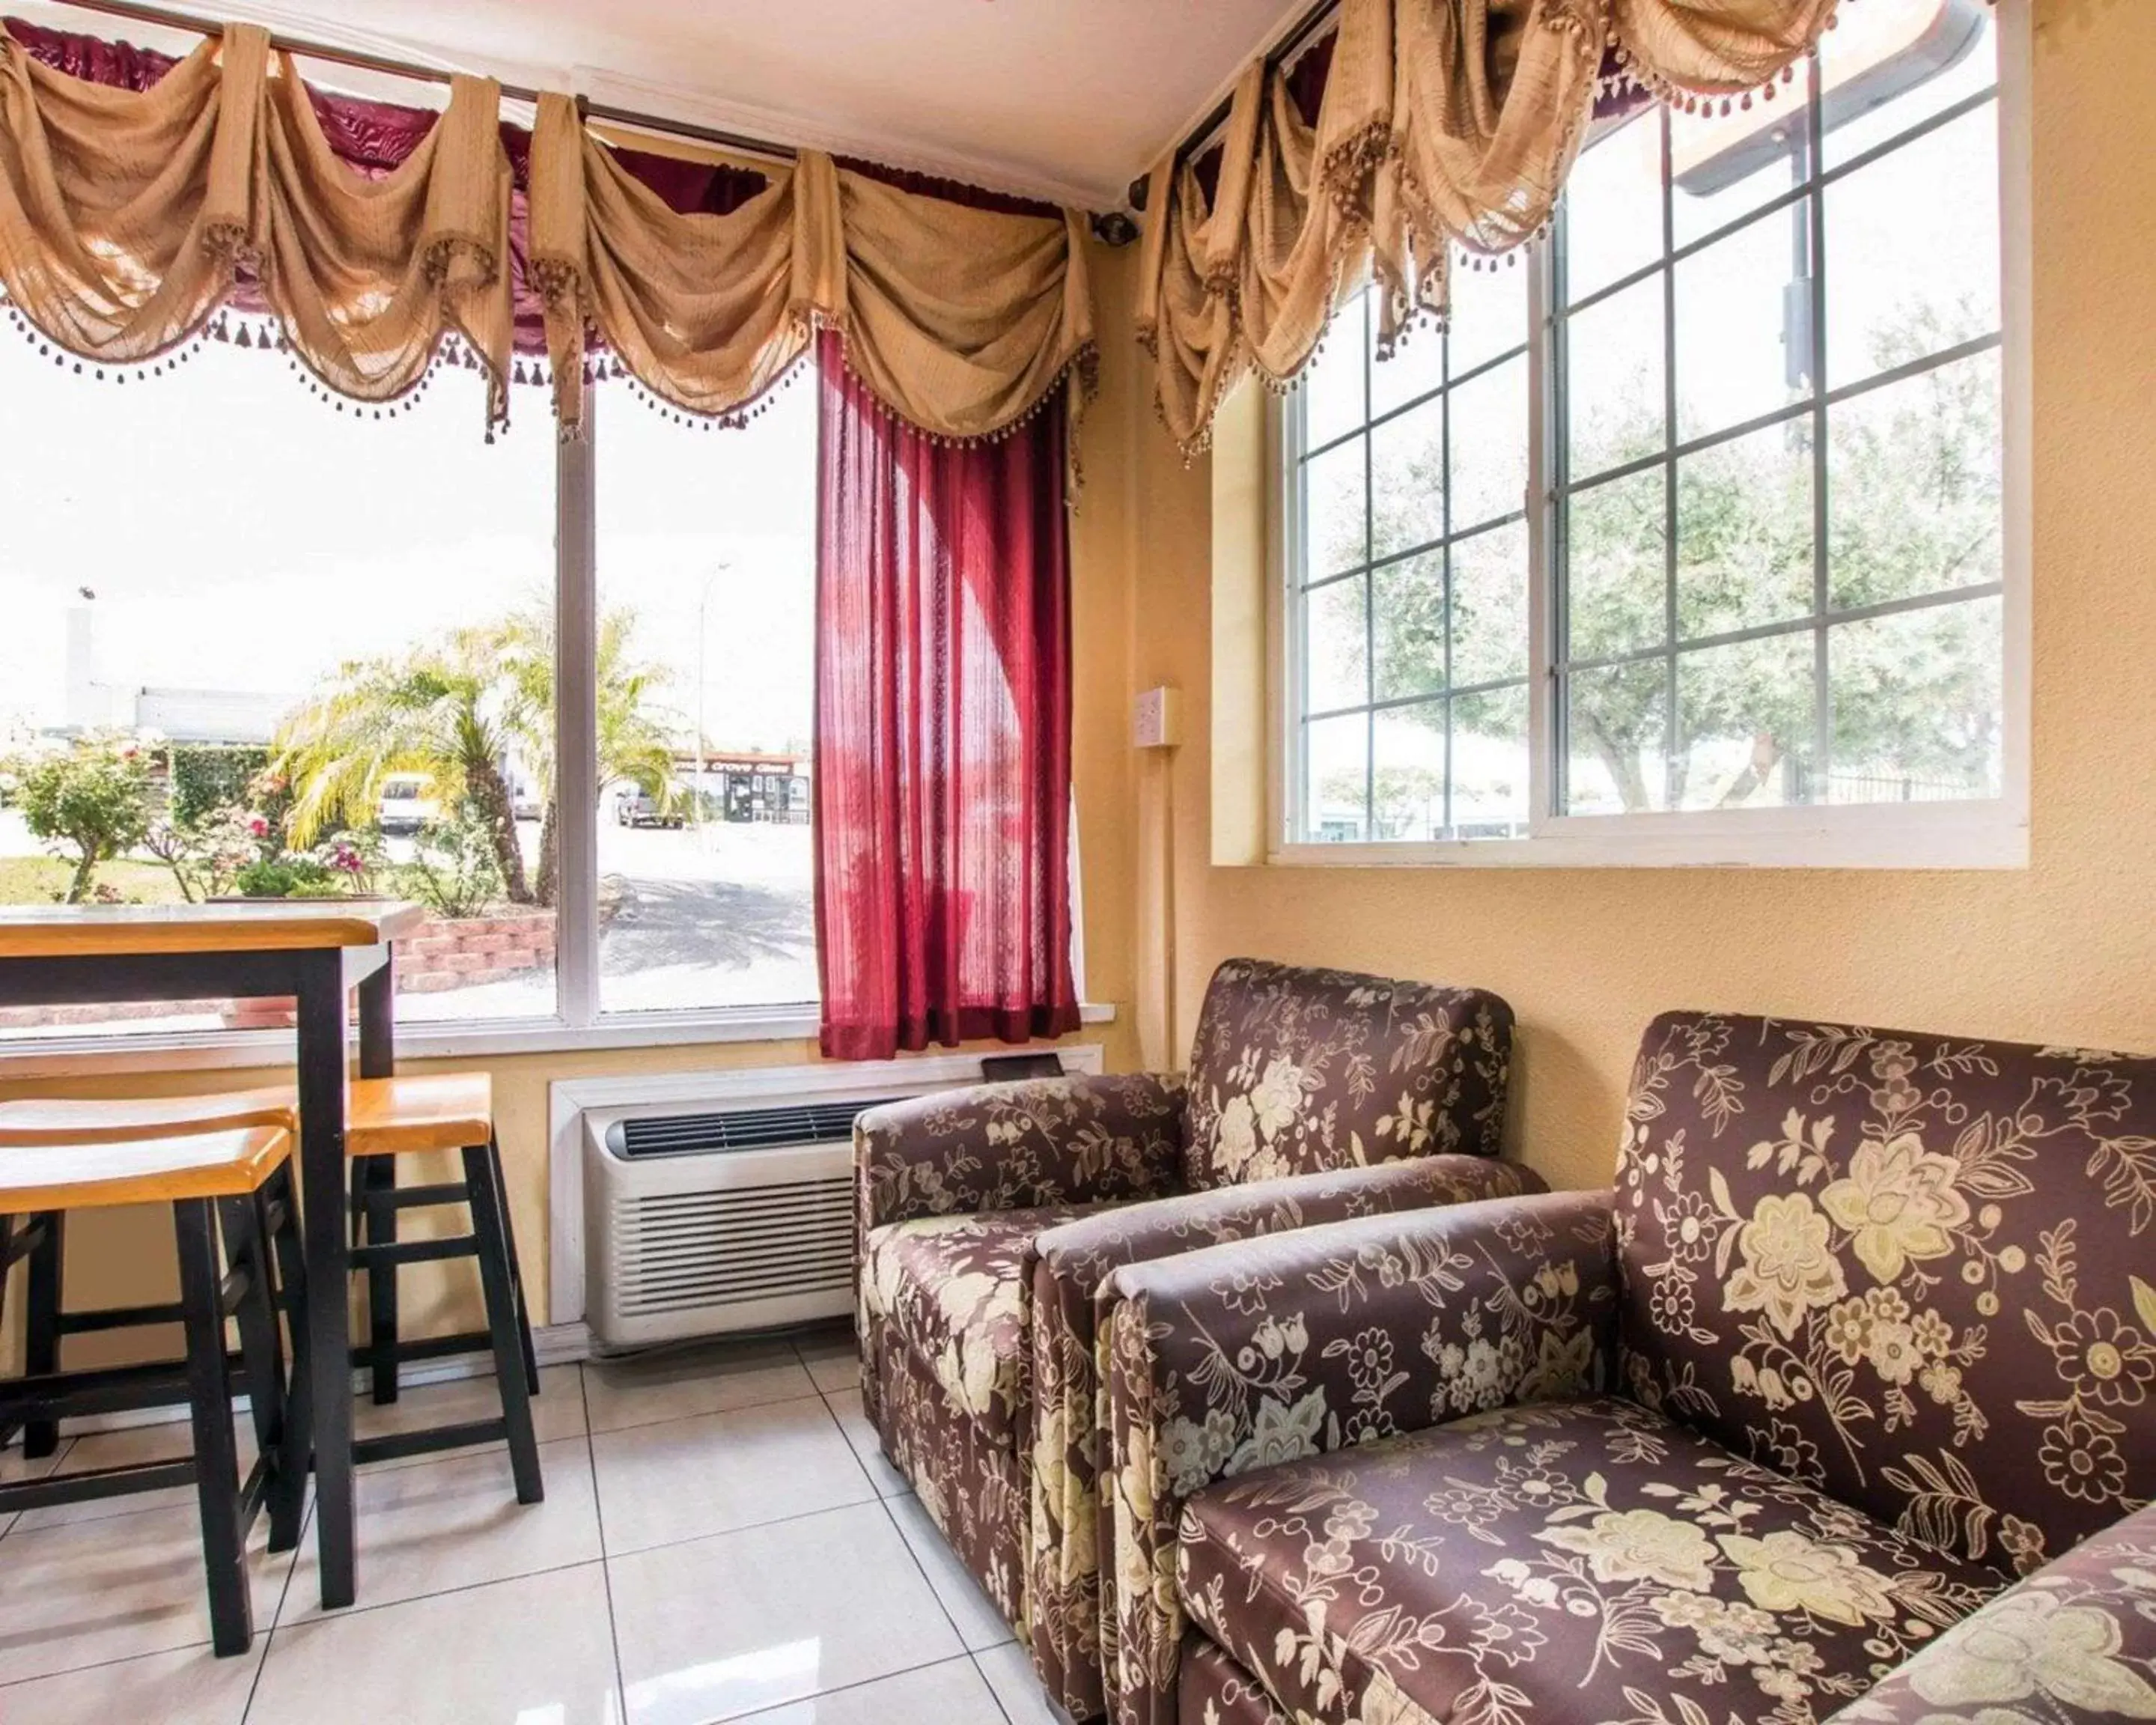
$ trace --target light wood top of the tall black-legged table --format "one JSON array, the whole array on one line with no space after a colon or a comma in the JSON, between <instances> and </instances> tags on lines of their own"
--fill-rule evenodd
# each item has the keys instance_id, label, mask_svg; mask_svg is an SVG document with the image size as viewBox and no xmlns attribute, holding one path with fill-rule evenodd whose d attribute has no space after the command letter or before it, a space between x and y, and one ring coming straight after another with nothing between
<instances>
[{"instance_id":1,"label":"light wood top of the tall black-legged table","mask_svg":"<svg viewBox=\"0 0 2156 1725\"><path fill-rule=\"evenodd\" d=\"M0 960L379 947L425 921L401 899L0 906Z\"/></svg>"}]
</instances>

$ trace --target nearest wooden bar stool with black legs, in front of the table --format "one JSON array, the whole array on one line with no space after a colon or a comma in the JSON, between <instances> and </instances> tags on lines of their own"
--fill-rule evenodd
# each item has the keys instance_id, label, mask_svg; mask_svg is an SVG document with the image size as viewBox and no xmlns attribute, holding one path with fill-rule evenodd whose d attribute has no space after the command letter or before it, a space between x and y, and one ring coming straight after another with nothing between
<instances>
[{"instance_id":1,"label":"nearest wooden bar stool with black legs, in front of the table","mask_svg":"<svg viewBox=\"0 0 2156 1725\"><path fill-rule=\"evenodd\" d=\"M17 1138L0 1147L0 1216L6 1218L0 1227L0 1272L22 1257L56 1257L65 1218L78 1210L170 1203L179 1244L179 1302L82 1313L73 1330L177 1320L188 1337L185 1358L97 1371L30 1363L26 1376L0 1382L0 1417L30 1430L52 1427L60 1419L185 1402L194 1451L181 1462L93 1468L0 1486L0 1514L192 1484L203 1518L211 1643L220 1656L244 1654L254 1637L246 1576L248 1531L267 1505L270 1548L291 1550L300 1542L313 1453L306 1363L295 1363L287 1393L276 1313L282 1281L293 1337L306 1337L291 1134L280 1126L257 1126L157 1136L153 1128L132 1126L125 1106L114 1104L114 1123L103 1141ZM246 1479L239 1479L233 1440L235 1363L224 1352L226 1320L239 1322L237 1365L254 1419L257 1460Z\"/></svg>"}]
</instances>

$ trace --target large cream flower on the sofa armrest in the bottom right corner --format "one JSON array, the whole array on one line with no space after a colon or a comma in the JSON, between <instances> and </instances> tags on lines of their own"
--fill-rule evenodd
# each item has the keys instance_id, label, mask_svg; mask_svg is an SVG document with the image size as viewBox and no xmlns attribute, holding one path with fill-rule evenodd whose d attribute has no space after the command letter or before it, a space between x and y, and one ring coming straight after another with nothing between
<instances>
[{"instance_id":1,"label":"large cream flower on the sofa armrest in the bottom right corner","mask_svg":"<svg viewBox=\"0 0 2156 1725\"><path fill-rule=\"evenodd\" d=\"M1908 1684L1943 1708L2042 1695L2109 1719L2156 1719L2156 1688L2119 1647L2109 1611L2029 1587L1949 1632L1910 1667Z\"/></svg>"}]
</instances>

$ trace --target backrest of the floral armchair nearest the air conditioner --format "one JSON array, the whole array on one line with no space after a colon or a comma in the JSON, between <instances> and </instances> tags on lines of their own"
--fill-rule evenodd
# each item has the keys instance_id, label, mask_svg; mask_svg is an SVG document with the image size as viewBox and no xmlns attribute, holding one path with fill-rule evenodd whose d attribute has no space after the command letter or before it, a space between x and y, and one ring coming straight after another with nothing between
<instances>
[{"instance_id":1,"label":"backrest of the floral armchair nearest the air conditioner","mask_svg":"<svg viewBox=\"0 0 2156 1725\"><path fill-rule=\"evenodd\" d=\"M1479 988L1231 957L1190 1054L1190 1190L1401 1156L1496 1156L1511 1007Z\"/></svg>"}]
</instances>

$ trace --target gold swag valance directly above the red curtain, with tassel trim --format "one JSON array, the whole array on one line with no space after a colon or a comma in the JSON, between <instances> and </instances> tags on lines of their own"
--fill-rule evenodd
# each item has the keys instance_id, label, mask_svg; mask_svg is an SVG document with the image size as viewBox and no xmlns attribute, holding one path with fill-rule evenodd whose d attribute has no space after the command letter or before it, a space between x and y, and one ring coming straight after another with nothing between
<instances>
[{"instance_id":1,"label":"gold swag valance directly above the red curtain, with tassel trim","mask_svg":"<svg viewBox=\"0 0 2156 1725\"><path fill-rule=\"evenodd\" d=\"M699 414L748 408L837 328L890 412L953 440L1009 431L1091 367L1078 216L968 209L819 151L765 172L740 209L679 216L567 97L541 97L530 259L565 431L582 423L586 328Z\"/></svg>"}]
</instances>

